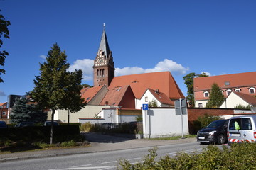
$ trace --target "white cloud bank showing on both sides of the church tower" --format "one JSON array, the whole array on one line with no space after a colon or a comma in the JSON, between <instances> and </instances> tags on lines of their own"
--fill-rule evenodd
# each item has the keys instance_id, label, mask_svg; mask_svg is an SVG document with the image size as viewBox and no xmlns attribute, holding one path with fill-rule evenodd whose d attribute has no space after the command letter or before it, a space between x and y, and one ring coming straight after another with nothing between
<instances>
[{"instance_id":1,"label":"white cloud bank showing on both sides of the church tower","mask_svg":"<svg viewBox=\"0 0 256 170\"><path fill-rule=\"evenodd\" d=\"M93 79L93 66L94 60L84 59L76 60L73 64L70 65L70 72L73 72L75 69L81 69L83 72L84 80ZM169 71L171 73L176 72L177 74L185 74L189 70L188 67L183 67L181 64L178 64L172 60L165 59L156 64L154 68L143 69L142 67L124 67L116 68L114 74L116 76L123 76L129 74L141 74L149 72L165 72Z\"/></svg>"}]
</instances>

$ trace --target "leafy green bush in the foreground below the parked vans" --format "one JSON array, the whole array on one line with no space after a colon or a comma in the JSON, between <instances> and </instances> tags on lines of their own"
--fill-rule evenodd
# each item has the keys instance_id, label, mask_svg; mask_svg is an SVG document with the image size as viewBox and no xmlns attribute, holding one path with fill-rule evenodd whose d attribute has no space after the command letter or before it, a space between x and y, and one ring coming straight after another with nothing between
<instances>
[{"instance_id":1,"label":"leafy green bush in the foreground below the parked vans","mask_svg":"<svg viewBox=\"0 0 256 170\"><path fill-rule=\"evenodd\" d=\"M176 157L165 156L156 161L156 148L149 149L143 162L131 164L120 160L118 169L255 169L256 143L233 144L230 149L209 145L203 152L179 153Z\"/></svg>"}]
</instances>

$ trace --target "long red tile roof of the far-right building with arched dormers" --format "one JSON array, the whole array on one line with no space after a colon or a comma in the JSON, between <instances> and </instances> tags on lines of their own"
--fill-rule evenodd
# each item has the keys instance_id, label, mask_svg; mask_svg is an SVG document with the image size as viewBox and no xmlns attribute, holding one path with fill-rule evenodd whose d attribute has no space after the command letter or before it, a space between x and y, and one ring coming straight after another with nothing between
<instances>
[{"instance_id":1,"label":"long red tile roof of the far-right building with arched dormers","mask_svg":"<svg viewBox=\"0 0 256 170\"><path fill-rule=\"evenodd\" d=\"M238 74L224 74L211 77L194 78L194 91L210 90L215 82L220 89L229 89L241 86L256 86L256 72L245 72ZM225 84L225 83L229 83Z\"/></svg>"}]
</instances>

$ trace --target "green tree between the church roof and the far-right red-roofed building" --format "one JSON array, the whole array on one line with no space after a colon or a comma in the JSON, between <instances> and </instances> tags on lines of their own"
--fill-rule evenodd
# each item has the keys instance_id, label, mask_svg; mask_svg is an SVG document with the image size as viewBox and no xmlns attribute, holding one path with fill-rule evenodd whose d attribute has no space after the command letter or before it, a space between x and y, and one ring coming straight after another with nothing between
<instances>
[{"instance_id":1,"label":"green tree between the church roof and the far-right red-roofed building","mask_svg":"<svg viewBox=\"0 0 256 170\"><path fill-rule=\"evenodd\" d=\"M195 98L194 98L194 91L193 91L193 79L195 77L208 77L205 72L201 74L196 74L194 72L191 72L183 77L184 83L186 84L188 91L187 91L187 101L191 107L195 107Z\"/></svg>"}]
</instances>

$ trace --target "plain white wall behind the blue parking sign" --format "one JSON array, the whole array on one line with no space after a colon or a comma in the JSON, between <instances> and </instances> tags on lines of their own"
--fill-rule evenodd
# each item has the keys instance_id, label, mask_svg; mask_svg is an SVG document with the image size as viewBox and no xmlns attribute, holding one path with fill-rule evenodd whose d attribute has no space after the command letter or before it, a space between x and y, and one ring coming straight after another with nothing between
<instances>
[{"instance_id":1,"label":"plain white wall behind the blue parking sign","mask_svg":"<svg viewBox=\"0 0 256 170\"><path fill-rule=\"evenodd\" d=\"M181 115L175 114L174 108L154 108L142 111L144 137L181 136ZM188 115L183 115L183 135L188 135Z\"/></svg>"}]
</instances>

